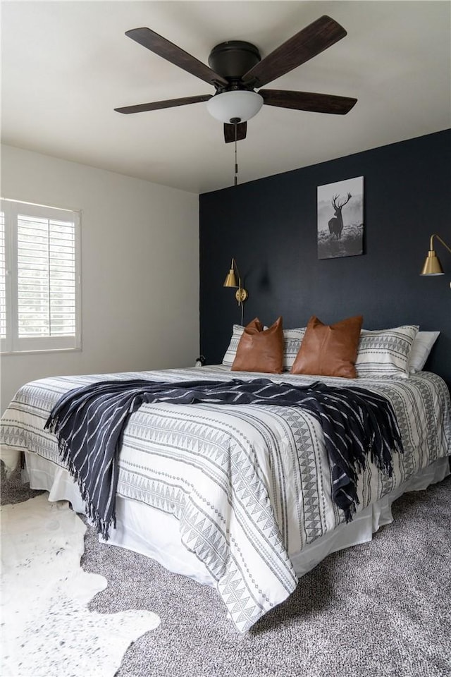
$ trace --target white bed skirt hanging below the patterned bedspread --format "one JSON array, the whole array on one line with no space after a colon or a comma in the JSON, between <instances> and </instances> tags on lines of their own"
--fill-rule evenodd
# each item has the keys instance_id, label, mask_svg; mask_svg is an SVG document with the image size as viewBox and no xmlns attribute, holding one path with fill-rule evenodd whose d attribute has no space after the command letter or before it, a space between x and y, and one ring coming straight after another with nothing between
<instances>
[{"instance_id":1,"label":"white bed skirt hanging below the patterned bedspread","mask_svg":"<svg viewBox=\"0 0 451 677\"><path fill-rule=\"evenodd\" d=\"M400 487L383 496L375 504L354 515L352 522L342 524L333 532L316 539L302 551L290 553L290 559L298 576L311 571L328 554L359 543L371 541L379 527L393 522L391 506L405 492L426 489L429 484L440 482L450 474L448 458L440 458L411 477ZM30 481L30 488L45 489L49 501L70 501L78 513L85 513L77 485L67 470L35 453L25 452L23 481ZM204 563L187 551L180 541L178 520L168 513L145 504L116 499L116 529L110 530L108 544L139 552L152 557L169 571L190 576L199 583L216 587ZM99 537L101 541L101 537Z\"/></svg>"}]
</instances>

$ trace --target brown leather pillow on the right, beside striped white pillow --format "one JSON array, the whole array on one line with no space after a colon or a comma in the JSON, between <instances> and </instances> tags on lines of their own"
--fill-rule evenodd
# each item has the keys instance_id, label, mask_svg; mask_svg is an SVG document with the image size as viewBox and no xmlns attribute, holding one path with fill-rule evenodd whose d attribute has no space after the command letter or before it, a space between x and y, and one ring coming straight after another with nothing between
<instances>
[{"instance_id":1,"label":"brown leather pillow on the right, beside striped white pillow","mask_svg":"<svg viewBox=\"0 0 451 677\"><path fill-rule=\"evenodd\" d=\"M362 315L357 315L328 325L313 315L307 324L291 373L356 379L354 365L362 322Z\"/></svg>"}]
</instances>

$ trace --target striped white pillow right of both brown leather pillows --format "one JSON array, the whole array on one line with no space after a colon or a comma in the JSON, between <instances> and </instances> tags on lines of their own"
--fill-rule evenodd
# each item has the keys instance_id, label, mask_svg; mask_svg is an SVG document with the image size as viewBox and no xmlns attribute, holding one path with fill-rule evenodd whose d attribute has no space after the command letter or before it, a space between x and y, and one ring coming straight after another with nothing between
<instances>
[{"instance_id":1,"label":"striped white pillow right of both brown leather pillows","mask_svg":"<svg viewBox=\"0 0 451 677\"><path fill-rule=\"evenodd\" d=\"M355 368L359 378L409 378L409 358L418 325L393 329L362 329Z\"/></svg>"}]
</instances>

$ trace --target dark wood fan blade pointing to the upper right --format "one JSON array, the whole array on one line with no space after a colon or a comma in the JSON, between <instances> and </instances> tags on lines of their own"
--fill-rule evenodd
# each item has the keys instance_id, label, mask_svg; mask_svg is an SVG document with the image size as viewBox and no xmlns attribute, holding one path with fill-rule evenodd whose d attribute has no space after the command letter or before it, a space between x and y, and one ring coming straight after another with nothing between
<instances>
[{"instance_id":1,"label":"dark wood fan blade pointing to the upper right","mask_svg":"<svg viewBox=\"0 0 451 677\"><path fill-rule=\"evenodd\" d=\"M252 87L262 87L309 61L345 35L347 33L339 23L330 16L321 16L261 59L242 76L242 80Z\"/></svg>"}]
</instances>

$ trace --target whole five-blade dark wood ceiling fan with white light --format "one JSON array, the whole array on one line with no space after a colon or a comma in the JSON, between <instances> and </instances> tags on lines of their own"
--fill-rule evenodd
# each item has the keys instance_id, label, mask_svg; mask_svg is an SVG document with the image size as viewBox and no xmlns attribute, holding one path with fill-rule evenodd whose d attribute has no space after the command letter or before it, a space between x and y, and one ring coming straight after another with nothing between
<instances>
[{"instance_id":1,"label":"whole five-blade dark wood ceiling fan with white light","mask_svg":"<svg viewBox=\"0 0 451 677\"><path fill-rule=\"evenodd\" d=\"M246 138L247 120L257 115L263 104L343 115L357 102L357 99L333 94L260 89L347 35L345 29L330 16L316 19L264 59L261 59L259 50L250 42L221 42L211 50L209 66L150 28L133 28L126 31L125 35L166 61L213 85L216 93L124 106L115 109L118 113L141 113L206 101L209 113L224 123L224 138L228 143ZM259 92L255 92L255 89Z\"/></svg>"}]
</instances>

